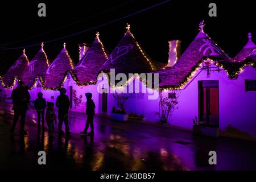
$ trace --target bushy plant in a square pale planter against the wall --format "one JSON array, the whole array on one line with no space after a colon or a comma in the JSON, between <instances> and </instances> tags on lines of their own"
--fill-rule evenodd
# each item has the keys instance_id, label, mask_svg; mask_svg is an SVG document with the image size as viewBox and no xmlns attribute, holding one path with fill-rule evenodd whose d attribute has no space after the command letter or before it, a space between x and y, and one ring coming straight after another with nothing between
<instances>
[{"instance_id":1,"label":"bushy plant in a square pale planter against the wall","mask_svg":"<svg viewBox=\"0 0 256 182\"><path fill-rule=\"evenodd\" d=\"M111 112L111 119L115 121L127 121L128 114L126 114L124 104L128 97L119 96L118 94L113 95L113 97L115 101L117 101L118 108L113 106L112 112Z\"/></svg>"}]
</instances>

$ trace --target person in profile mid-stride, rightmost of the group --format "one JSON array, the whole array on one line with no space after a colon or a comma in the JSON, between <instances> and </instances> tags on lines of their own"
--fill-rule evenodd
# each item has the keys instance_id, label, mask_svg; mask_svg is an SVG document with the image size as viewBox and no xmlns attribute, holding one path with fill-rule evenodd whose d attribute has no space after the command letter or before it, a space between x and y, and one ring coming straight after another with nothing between
<instances>
[{"instance_id":1,"label":"person in profile mid-stride, rightmost of the group","mask_svg":"<svg viewBox=\"0 0 256 182\"><path fill-rule=\"evenodd\" d=\"M93 136L94 135L93 117L95 114L95 104L92 100L92 93L86 93L85 96L87 99L87 102L86 102L87 120L86 120L85 129L84 129L84 131L80 132L80 134ZM89 125L90 125L90 133L87 133Z\"/></svg>"}]
</instances>

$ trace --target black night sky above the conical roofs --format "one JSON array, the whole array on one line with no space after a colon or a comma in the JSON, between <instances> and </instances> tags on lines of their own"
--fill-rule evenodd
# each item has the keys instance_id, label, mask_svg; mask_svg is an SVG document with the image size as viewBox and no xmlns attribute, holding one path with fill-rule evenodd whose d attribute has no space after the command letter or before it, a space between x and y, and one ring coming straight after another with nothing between
<instances>
[{"instance_id":1,"label":"black night sky above the conical roofs","mask_svg":"<svg viewBox=\"0 0 256 182\"><path fill-rule=\"evenodd\" d=\"M163 1L1 1L0 49L24 47L61 38L111 22ZM40 2L46 3L46 18L38 17ZM217 4L217 17L208 16L210 2ZM130 23L131 32L147 54L153 60L167 62L168 40L181 40L181 51L184 51L198 34L199 22L205 20L205 32L226 53L234 56L247 42L247 32L251 31L253 40L256 40L254 12L252 1L244 0L238 3L174 0L80 35L45 44L44 49L53 60L63 48L63 42L66 42L70 55L77 63L78 44L92 43L96 31L100 31L101 41L111 52L125 33L126 23ZM79 22L75 23L77 21ZM67 26L71 23L73 23L71 26ZM31 38L33 36L35 37ZM30 60L39 48L40 46L26 48ZM0 74L18 59L22 49L0 50Z\"/></svg>"}]
</instances>

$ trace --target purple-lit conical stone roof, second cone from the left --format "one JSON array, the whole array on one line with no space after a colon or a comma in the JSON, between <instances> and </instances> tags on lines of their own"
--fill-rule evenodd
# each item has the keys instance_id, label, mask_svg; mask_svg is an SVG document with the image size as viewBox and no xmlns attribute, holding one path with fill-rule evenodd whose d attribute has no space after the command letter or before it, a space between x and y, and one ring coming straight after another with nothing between
<instances>
[{"instance_id":1,"label":"purple-lit conical stone roof, second cone from the left","mask_svg":"<svg viewBox=\"0 0 256 182\"><path fill-rule=\"evenodd\" d=\"M44 81L46 71L49 67L49 60L46 52L44 52L43 46L44 44L42 43L39 52L30 61L30 64L28 64L27 68L22 73L22 81L24 81L25 85L30 89L34 86L38 76Z\"/></svg>"}]
</instances>

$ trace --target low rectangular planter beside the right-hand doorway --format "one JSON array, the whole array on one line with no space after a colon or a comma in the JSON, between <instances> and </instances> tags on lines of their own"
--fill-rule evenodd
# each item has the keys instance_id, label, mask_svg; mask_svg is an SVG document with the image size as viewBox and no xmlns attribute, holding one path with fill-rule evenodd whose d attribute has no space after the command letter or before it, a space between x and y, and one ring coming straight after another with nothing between
<instances>
[{"instance_id":1,"label":"low rectangular planter beside the right-hand doorway","mask_svg":"<svg viewBox=\"0 0 256 182\"><path fill-rule=\"evenodd\" d=\"M218 137L220 130L218 127L211 126L207 123L199 122L197 117L193 119L193 134L204 135L207 137Z\"/></svg>"}]
</instances>

